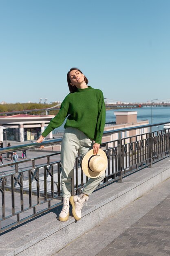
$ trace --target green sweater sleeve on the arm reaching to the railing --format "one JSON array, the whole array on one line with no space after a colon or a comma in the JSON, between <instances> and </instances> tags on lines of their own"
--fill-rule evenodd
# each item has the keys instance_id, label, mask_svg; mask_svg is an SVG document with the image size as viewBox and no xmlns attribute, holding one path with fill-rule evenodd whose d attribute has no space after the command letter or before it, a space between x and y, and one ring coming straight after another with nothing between
<instances>
[{"instance_id":1,"label":"green sweater sleeve on the arm reaching to the railing","mask_svg":"<svg viewBox=\"0 0 170 256\"><path fill-rule=\"evenodd\" d=\"M46 137L52 130L54 130L57 127L60 127L67 116L68 116L68 104L66 104L66 101L63 101L60 107L60 111L53 119L51 119L51 121L49 122L49 125L46 127L44 132L42 132L42 136Z\"/></svg>"}]
</instances>

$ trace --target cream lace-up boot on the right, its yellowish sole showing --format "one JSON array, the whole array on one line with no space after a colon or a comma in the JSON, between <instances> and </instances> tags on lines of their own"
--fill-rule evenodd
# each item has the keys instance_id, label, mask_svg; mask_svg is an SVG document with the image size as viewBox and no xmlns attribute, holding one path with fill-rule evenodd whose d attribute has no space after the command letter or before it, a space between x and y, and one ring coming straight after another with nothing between
<instances>
[{"instance_id":1,"label":"cream lace-up boot on the right, its yellowish sole showing","mask_svg":"<svg viewBox=\"0 0 170 256\"><path fill-rule=\"evenodd\" d=\"M87 202L88 196L86 196L84 193L81 193L80 195L73 195L70 198L71 205L73 207L72 213L75 218L75 220L80 220L82 218L82 208L83 204Z\"/></svg>"}]
</instances>

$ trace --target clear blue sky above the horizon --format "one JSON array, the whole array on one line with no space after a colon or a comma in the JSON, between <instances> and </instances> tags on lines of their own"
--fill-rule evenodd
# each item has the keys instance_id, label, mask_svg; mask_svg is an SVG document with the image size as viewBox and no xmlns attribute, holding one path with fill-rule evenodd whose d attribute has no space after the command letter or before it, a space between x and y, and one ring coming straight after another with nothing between
<instances>
[{"instance_id":1,"label":"clear blue sky above the horizon","mask_svg":"<svg viewBox=\"0 0 170 256\"><path fill-rule=\"evenodd\" d=\"M0 102L62 101L71 67L108 99L170 99L169 13L169 0L0 0Z\"/></svg>"}]
</instances>

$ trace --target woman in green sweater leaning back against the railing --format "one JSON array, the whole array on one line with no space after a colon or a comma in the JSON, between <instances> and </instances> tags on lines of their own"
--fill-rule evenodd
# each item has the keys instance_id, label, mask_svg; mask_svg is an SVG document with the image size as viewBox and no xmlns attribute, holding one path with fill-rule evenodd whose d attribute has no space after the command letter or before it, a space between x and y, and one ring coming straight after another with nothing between
<instances>
[{"instance_id":1,"label":"woman in green sweater leaning back against the railing","mask_svg":"<svg viewBox=\"0 0 170 256\"><path fill-rule=\"evenodd\" d=\"M70 93L62 102L59 113L50 121L37 140L39 143L42 142L44 137L53 129L61 126L68 116L64 126L65 133L61 146L63 208L59 215L60 221L68 220L71 177L78 150L82 157L92 148L94 155L97 155L106 119L102 91L88 86L88 79L81 70L75 67L71 68L67 74L67 82ZM81 209L84 202L88 200L89 195L91 195L104 177L105 173L102 173L97 178L90 178L84 186L82 193L76 196L76 202L71 200L71 204L75 204L73 216L76 220L81 218Z\"/></svg>"}]
</instances>

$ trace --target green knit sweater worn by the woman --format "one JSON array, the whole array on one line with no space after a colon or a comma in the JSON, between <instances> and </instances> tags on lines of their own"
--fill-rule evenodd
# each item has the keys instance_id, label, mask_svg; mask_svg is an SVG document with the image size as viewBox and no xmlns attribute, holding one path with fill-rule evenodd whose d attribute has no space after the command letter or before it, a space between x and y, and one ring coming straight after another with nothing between
<instances>
[{"instance_id":1,"label":"green knit sweater worn by the woman","mask_svg":"<svg viewBox=\"0 0 170 256\"><path fill-rule=\"evenodd\" d=\"M77 128L90 139L101 144L106 120L102 91L89 86L68 94L61 104L60 111L42 132L42 136L46 137L53 129L61 126L66 117L64 128Z\"/></svg>"}]
</instances>

